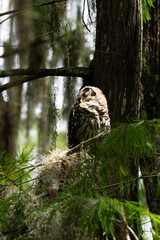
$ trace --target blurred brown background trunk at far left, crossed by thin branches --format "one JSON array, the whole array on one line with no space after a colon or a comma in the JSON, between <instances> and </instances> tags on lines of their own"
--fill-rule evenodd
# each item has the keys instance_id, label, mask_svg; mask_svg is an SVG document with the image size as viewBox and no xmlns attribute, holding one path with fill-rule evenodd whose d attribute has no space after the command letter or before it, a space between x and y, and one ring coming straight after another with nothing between
<instances>
[{"instance_id":1,"label":"blurred brown background trunk at far left, crossed by thin branches","mask_svg":"<svg viewBox=\"0 0 160 240\"><path fill-rule=\"evenodd\" d=\"M29 1L24 3L21 0L11 1L11 8L21 9L23 7L27 7ZM15 28L13 29L13 24L15 24ZM12 51L12 47L10 47L15 42L15 36L19 39L20 44L26 42L29 38L30 31L30 21L27 13L17 15L11 19L10 25L10 39L8 43L4 44L5 53L8 54ZM5 67L12 69L14 66L14 62L20 65L20 67L26 67L27 60L27 51L23 50L19 52L19 61L15 56L9 55L5 58ZM10 77L10 82L13 82L17 79L17 77ZM0 151L6 151L9 155L14 155L17 148L17 140L18 133L20 127L20 115L21 115L21 99L22 97L22 85L18 87L12 88L7 91L7 100L1 97L1 106L0 109L0 121L2 122L0 126ZM3 112L2 112L3 111Z\"/></svg>"}]
</instances>

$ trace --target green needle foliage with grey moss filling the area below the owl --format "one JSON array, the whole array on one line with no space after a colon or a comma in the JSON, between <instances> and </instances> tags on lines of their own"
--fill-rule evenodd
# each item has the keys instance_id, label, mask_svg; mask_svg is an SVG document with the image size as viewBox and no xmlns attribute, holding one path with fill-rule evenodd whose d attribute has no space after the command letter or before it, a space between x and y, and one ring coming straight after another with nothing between
<instances>
[{"instance_id":1,"label":"green needle foliage with grey moss filling the area below the owl","mask_svg":"<svg viewBox=\"0 0 160 240\"><path fill-rule=\"evenodd\" d=\"M57 159L55 153L52 161L48 156L51 167L43 165L34 186L30 184L27 188L23 187L23 179L16 180L23 175L27 164L27 154L23 151L17 159L18 168L11 175L13 186L13 179L19 185L0 199L1 235L6 240L114 239L125 226L130 235L132 230L138 238L143 238L141 218L148 216L154 239L159 239L160 215L151 213L149 206L142 207L138 197L133 198L139 188L138 169L142 160L152 159L154 163L156 159L159 130L158 120L123 124L108 135L104 133L97 140L90 140L77 153L59 154ZM22 172L17 176L17 171ZM154 164L152 171L146 173L144 177L152 179L152 174L157 173ZM52 185L47 180L51 175ZM49 193L54 190L54 178L59 186L56 198ZM48 194L47 191L41 194L45 184ZM153 187L159 188L159 183Z\"/></svg>"}]
</instances>

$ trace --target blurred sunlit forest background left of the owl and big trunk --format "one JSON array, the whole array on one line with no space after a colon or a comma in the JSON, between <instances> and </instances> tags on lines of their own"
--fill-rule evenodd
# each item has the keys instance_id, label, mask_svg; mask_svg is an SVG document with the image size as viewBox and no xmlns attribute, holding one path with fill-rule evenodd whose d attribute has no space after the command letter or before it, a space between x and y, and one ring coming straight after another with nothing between
<instances>
[{"instance_id":1,"label":"blurred sunlit forest background left of the owl and big trunk","mask_svg":"<svg viewBox=\"0 0 160 240\"><path fill-rule=\"evenodd\" d=\"M57 1L43 7L30 6L41 0L10 1L9 9L21 9L7 20L9 37L3 42L3 69L54 68L89 64L91 50L86 45L84 26L81 23L81 3L74 2L75 19L69 19L67 8L71 1ZM2 3L4 4L4 3ZM6 3L5 3L6 4ZM24 10L23 10L24 9ZM2 40L1 40L2 42ZM10 77L9 81L19 77ZM57 121L61 117L66 126L69 111L77 89L77 81L61 81L54 77L30 81L9 89L1 95L0 150L14 155L17 144L30 143L38 153L56 148ZM57 82L61 94L57 97ZM63 102L57 106L57 102ZM60 109L58 109L60 108ZM66 128L61 127L58 146L66 145ZM63 144L62 144L63 142Z\"/></svg>"}]
</instances>

